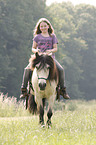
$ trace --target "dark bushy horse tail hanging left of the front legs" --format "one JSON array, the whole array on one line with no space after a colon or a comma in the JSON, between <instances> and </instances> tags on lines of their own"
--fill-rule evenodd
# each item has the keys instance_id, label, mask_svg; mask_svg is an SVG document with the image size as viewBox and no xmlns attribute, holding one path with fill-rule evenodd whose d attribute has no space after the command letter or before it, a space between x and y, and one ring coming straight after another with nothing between
<instances>
[{"instance_id":1,"label":"dark bushy horse tail hanging left of the front legs","mask_svg":"<svg viewBox=\"0 0 96 145\"><path fill-rule=\"evenodd\" d=\"M34 95L31 95L31 94L28 100L28 110L32 114L37 114L37 104L35 102Z\"/></svg>"}]
</instances>

